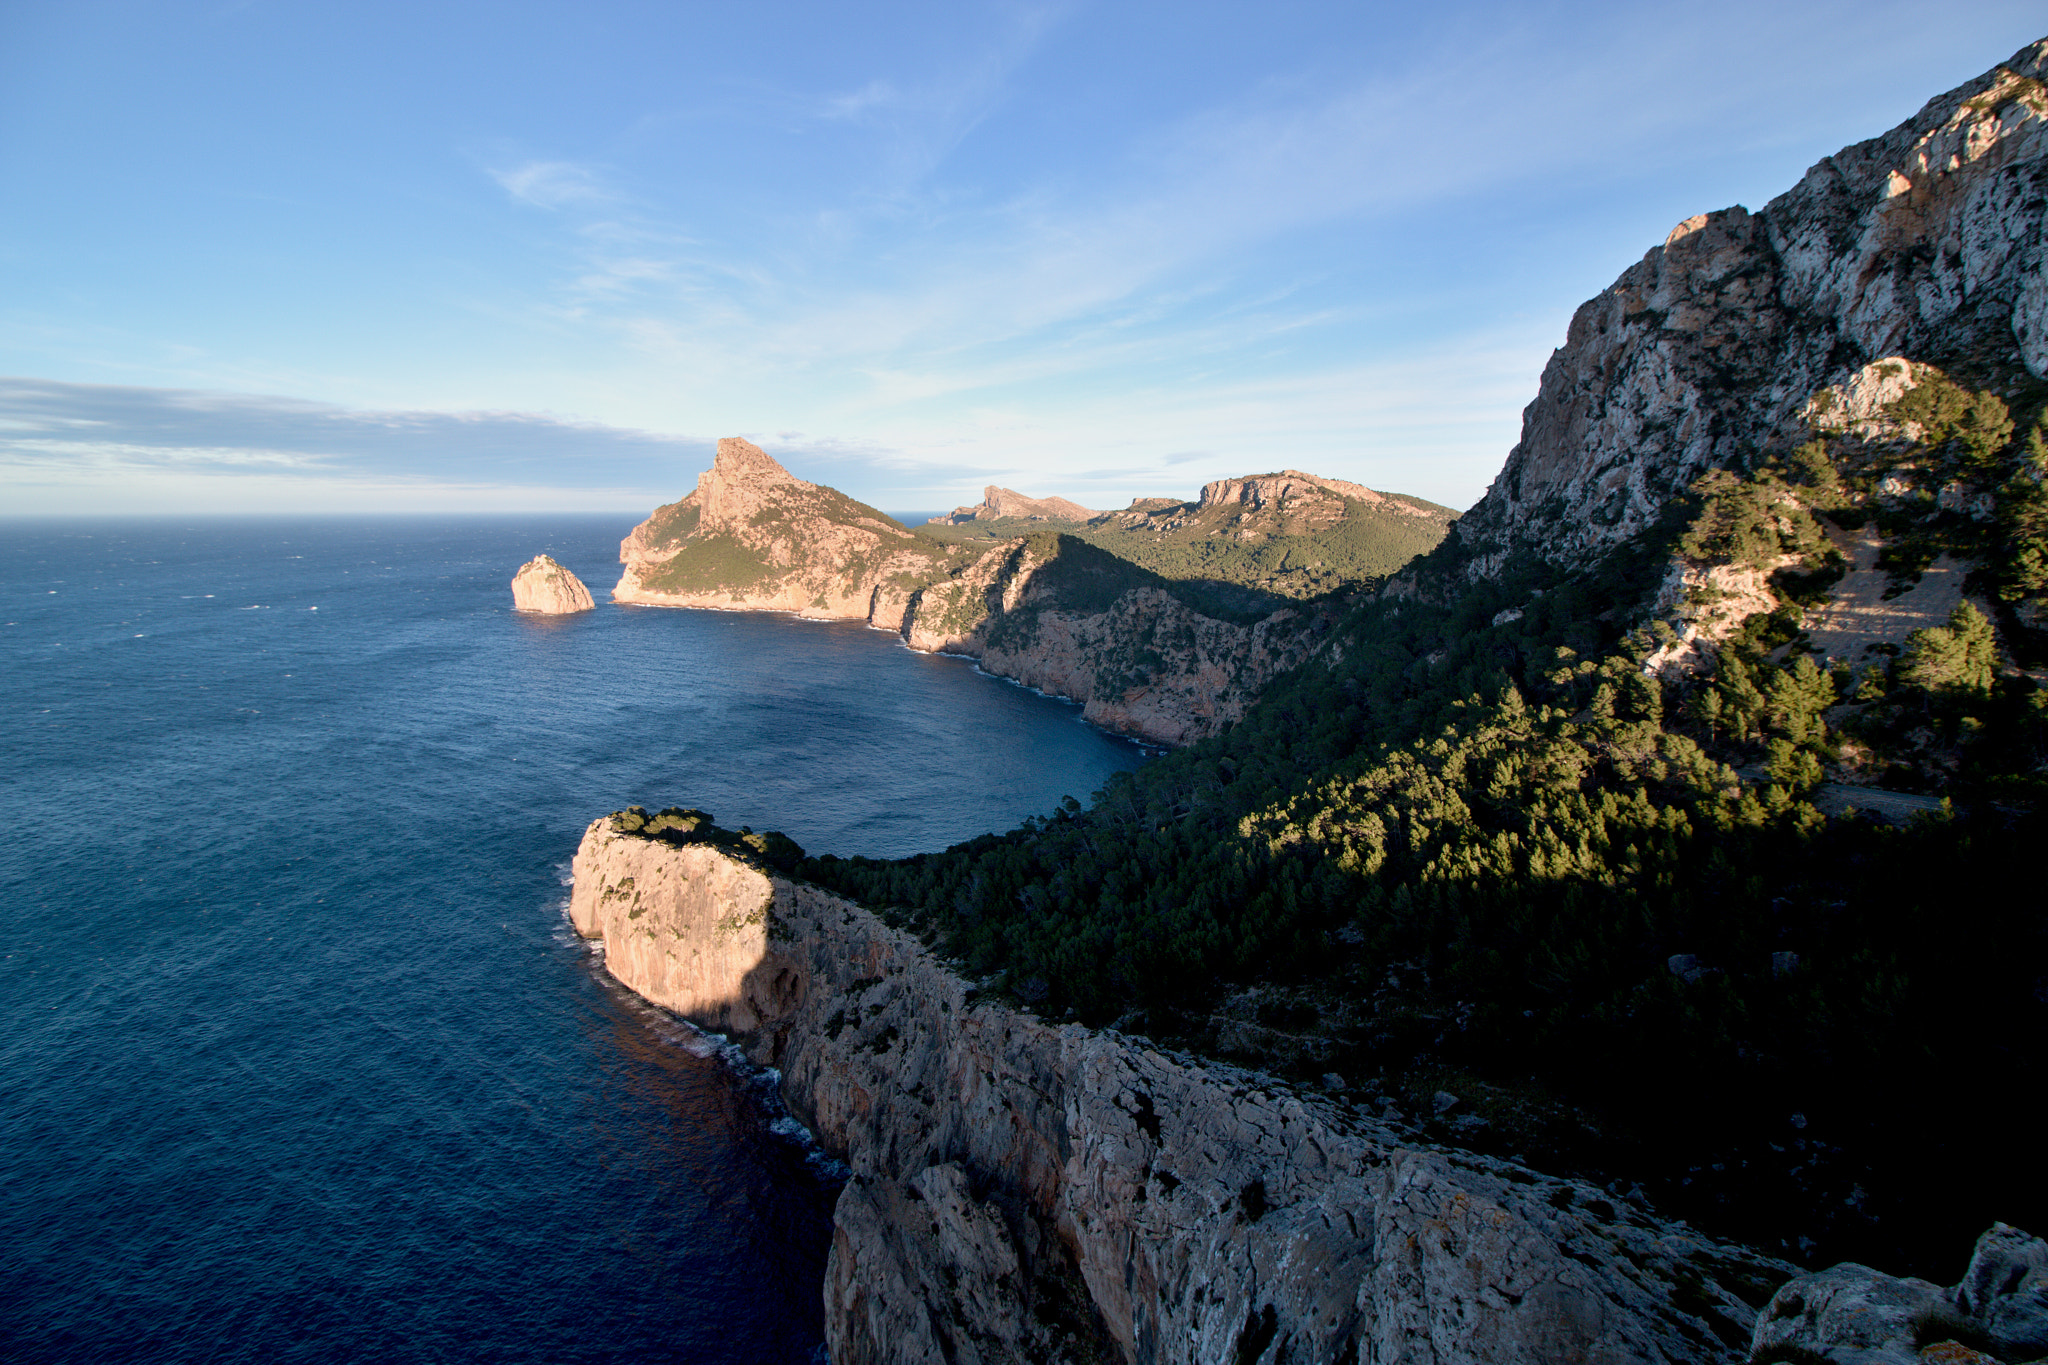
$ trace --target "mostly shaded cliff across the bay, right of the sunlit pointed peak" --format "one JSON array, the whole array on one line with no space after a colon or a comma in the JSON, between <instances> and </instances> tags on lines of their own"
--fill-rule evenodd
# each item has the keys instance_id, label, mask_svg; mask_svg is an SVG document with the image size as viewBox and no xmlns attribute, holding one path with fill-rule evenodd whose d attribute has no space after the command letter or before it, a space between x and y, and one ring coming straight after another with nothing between
<instances>
[{"instance_id":1,"label":"mostly shaded cliff across the bay, right of the sunlit pointed peak","mask_svg":"<svg viewBox=\"0 0 2048 1365\"><path fill-rule=\"evenodd\" d=\"M1092 724L1186 745L1243 718L1327 628L1327 610L1282 608L1249 624L1204 616L1141 571L1098 557L1071 540L995 546L918 593L903 639L1073 698ZM1090 581L1092 569L1112 565L1133 581Z\"/></svg>"}]
</instances>

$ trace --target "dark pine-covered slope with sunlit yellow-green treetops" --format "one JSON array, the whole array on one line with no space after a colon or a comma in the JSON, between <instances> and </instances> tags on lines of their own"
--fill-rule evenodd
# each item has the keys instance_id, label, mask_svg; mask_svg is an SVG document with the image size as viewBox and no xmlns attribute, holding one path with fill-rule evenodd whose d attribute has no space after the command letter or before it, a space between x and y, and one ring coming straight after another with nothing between
<instances>
[{"instance_id":1,"label":"dark pine-covered slope with sunlit yellow-green treetops","mask_svg":"<svg viewBox=\"0 0 2048 1365\"><path fill-rule=\"evenodd\" d=\"M2048 692L2015 667L2048 436L1937 372L1915 393L1907 436L1710 475L1573 577L1468 581L1446 542L1233 731L1087 806L803 874L1049 1017L1335 1076L1796 1261L1952 1277L1927 1248L2048 1214L2030 1162L1982 1160L2048 1038ZM1980 501L1921 491L1958 485ZM1823 667L1823 518L1878 520L1901 581L1974 555L1997 630L1966 604ZM1698 675L1647 669L1673 553L1776 567L1786 602ZM1851 753L1948 808L1825 817Z\"/></svg>"}]
</instances>

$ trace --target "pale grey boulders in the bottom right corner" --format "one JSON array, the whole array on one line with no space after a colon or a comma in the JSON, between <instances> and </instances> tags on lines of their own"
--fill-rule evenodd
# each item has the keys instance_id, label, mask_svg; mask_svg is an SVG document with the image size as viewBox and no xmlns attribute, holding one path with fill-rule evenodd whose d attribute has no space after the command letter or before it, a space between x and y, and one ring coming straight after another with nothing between
<instances>
[{"instance_id":1,"label":"pale grey boulders in the bottom right corner","mask_svg":"<svg viewBox=\"0 0 2048 1365\"><path fill-rule=\"evenodd\" d=\"M1843 1263L1800 1275L1757 1318L1753 1355L1841 1365L2048 1357L2048 1242L1993 1224L1950 1289Z\"/></svg>"}]
</instances>

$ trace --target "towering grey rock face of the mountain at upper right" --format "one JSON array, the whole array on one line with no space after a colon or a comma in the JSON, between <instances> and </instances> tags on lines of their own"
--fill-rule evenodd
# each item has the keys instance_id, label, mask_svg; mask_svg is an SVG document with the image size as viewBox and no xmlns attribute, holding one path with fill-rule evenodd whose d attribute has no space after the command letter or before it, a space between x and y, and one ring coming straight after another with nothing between
<instances>
[{"instance_id":1,"label":"towering grey rock face of the mountain at upper right","mask_svg":"<svg viewBox=\"0 0 2048 1365\"><path fill-rule=\"evenodd\" d=\"M1704 471L1804 434L1808 397L1907 356L2048 375L2048 41L1847 147L1761 213L1671 229L1571 319L1522 442L1458 522L1473 573L1583 565Z\"/></svg>"}]
</instances>

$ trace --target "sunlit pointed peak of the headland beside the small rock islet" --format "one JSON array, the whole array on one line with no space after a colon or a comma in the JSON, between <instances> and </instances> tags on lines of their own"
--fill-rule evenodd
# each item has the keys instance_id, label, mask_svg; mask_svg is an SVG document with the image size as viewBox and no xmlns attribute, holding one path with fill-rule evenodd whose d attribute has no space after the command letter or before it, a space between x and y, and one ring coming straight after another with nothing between
<instances>
[{"instance_id":1,"label":"sunlit pointed peak of the headland beside the small rock islet","mask_svg":"<svg viewBox=\"0 0 2048 1365\"><path fill-rule=\"evenodd\" d=\"M696 491L635 526L618 561L612 602L891 624L946 548L725 438Z\"/></svg>"}]
</instances>

